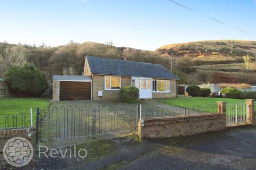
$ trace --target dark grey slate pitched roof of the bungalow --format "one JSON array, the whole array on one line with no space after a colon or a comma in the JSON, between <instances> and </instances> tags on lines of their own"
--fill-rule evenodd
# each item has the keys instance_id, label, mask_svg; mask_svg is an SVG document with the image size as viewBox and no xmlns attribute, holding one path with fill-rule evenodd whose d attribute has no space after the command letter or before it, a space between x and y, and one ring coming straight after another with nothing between
<instances>
[{"instance_id":1,"label":"dark grey slate pitched roof of the bungalow","mask_svg":"<svg viewBox=\"0 0 256 170\"><path fill-rule=\"evenodd\" d=\"M86 56L92 74L179 79L160 64L150 64L105 57Z\"/></svg>"}]
</instances>

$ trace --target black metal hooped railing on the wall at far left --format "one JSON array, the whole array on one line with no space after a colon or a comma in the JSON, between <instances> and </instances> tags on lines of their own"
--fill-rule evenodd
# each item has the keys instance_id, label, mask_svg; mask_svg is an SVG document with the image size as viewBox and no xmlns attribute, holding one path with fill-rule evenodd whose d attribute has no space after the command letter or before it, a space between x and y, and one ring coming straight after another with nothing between
<instances>
[{"instance_id":1,"label":"black metal hooped railing on the wall at far left","mask_svg":"<svg viewBox=\"0 0 256 170\"><path fill-rule=\"evenodd\" d=\"M30 114L0 114L0 129L17 129L30 127Z\"/></svg>"}]
</instances>

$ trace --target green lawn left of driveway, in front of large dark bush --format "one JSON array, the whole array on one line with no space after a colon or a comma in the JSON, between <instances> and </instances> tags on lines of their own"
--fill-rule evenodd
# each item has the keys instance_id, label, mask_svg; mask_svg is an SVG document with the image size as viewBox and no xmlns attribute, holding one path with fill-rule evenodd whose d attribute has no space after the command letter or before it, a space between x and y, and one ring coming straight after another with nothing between
<instances>
[{"instance_id":1,"label":"green lawn left of driveway, in front of large dark bush","mask_svg":"<svg viewBox=\"0 0 256 170\"><path fill-rule=\"evenodd\" d=\"M33 108L33 123L35 125L36 120L36 107L49 106L49 100L47 98L0 98L0 114L29 114L30 107ZM29 124L29 115L26 117L26 125ZM9 119L10 126L13 125L13 119ZM24 122L24 121L23 121ZM15 123L14 123L15 124ZM20 126L21 118L18 118L17 126ZM4 128L4 118L0 116L0 128Z\"/></svg>"}]
</instances>

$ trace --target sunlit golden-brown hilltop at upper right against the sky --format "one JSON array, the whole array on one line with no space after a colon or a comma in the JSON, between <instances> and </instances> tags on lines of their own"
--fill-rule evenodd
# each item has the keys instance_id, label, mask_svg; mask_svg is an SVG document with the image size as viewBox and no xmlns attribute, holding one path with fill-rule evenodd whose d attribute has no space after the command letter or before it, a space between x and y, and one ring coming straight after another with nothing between
<instances>
[{"instance_id":1,"label":"sunlit golden-brown hilltop at upper right against the sky","mask_svg":"<svg viewBox=\"0 0 256 170\"><path fill-rule=\"evenodd\" d=\"M209 64L240 63L246 54L256 58L256 41L212 40L170 44L159 47L157 52L178 58L191 57ZM199 62L201 64L201 62Z\"/></svg>"}]
</instances>

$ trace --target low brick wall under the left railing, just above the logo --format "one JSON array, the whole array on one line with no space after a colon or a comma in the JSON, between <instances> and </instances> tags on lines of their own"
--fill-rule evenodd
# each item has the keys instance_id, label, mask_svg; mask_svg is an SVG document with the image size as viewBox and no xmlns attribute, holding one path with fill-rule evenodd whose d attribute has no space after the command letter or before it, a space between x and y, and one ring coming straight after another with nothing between
<instances>
[{"instance_id":1,"label":"low brick wall under the left railing, just above the logo","mask_svg":"<svg viewBox=\"0 0 256 170\"><path fill-rule=\"evenodd\" d=\"M27 129L2 129L0 130L0 152L3 152L5 142L14 137L26 138L33 146L36 144L36 131L33 128Z\"/></svg>"}]
</instances>

